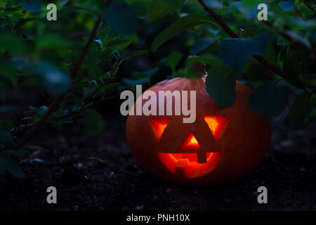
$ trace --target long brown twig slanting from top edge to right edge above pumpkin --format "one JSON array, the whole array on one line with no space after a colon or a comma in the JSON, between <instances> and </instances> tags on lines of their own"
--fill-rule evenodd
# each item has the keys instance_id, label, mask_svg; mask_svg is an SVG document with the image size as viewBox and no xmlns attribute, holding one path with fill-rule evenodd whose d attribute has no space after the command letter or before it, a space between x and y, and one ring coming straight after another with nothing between
<instances>
[{"instance_id":1,"label":"long brown twig slanting from top edge to right edge above pumpkin","mask_svg":"<svg viewBox=\"0 0 316 225\"><path fill-rule=\"evenodd\" d=\"M225 21L223 20L223 18L218 15L218 13L216 13L215 11L213 11L213 9L206 5L204 0L198 0L199 3L203 6L204 10L207 11L217 22L218 24L223 27L223 30L232 38L239 38L239 36L232 31L232 29L230 29L230 27L228 27L228 25L225 23ZM286 79L284 72L277 67L276 65L273 65L272 63L270 63L268 60L265 60L265 58L263 58L262 56L257 56L254 55L254 58L256 58L256 60L258 60L259 63L261 63L263 66L265 66L265 68L268 68L269 70L275 72L277 75L279 75L280 77ZM312 86L311 84L307 84L307 83L303 83L305 86L307 86L308 88L312 89L312 91L314 93L316 93L316 87Z\"/></svg>"}]
</instances>

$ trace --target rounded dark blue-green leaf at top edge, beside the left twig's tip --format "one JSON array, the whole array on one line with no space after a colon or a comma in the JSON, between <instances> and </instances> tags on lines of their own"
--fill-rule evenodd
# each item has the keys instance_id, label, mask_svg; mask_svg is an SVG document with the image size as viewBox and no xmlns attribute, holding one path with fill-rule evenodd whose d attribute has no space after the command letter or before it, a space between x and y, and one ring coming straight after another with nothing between
<instances>
[{"instance_id":1,"label":"rounded dark blue-green leaf at top edge, beside the left twig's tip","mask_svg":"<svg viewBox=\"0 0 316 225\"><path fill-rule=\"evenodd\" d=\"M105 8L103 15L107 25L121 35L131 35L136 30L136 13L123 1Z\"/></svg>"}]
</instances>

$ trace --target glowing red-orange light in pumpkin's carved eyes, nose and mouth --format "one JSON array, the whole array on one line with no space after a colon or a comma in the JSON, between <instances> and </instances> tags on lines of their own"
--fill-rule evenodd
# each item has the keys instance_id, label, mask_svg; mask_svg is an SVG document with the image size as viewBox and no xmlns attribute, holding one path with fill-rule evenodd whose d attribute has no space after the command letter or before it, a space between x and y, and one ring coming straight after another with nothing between
<instances>
[{"instance_id":1,"label":"glowing red-orange light in pumpkin's carved eyes, nose and mouth","mask_svg":"<svg viewBox=\"0 0 316 225\"><path fill-rule=\"evenodd\" d=\"M228 122L228 117L223 116L204 116L204 121L209 126L211 133L217 140ZM164 133L164 129L168 126L171 117L150 118L152 131L159 141ZM199 150L201 146L192 134L188 132L180 147L183 153L160 153L158 150L159 160L173 173L183 174L186 178L195 178L203 176L215 169L220 160L220 153L206 152L206 162L200 162L198 159ZM193 153L192 153L193 151Z\"/></svg>"}]
</instances>

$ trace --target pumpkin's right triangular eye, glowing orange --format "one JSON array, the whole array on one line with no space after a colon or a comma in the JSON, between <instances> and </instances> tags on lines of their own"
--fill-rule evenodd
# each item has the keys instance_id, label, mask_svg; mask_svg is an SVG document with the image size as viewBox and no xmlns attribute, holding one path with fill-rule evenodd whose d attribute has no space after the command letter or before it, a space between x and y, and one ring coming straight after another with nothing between
<instances>
[{"instance_id":1,"label":"pumpkin's right triangular eye, glowing orange","mask_svg":"<svg viewBox=\"0 0 316 225\"><path fill-rule=\"evenodd\" d=\"M226 124L229 120L229 117L223 116L213 116L213 115L204 115L203 116L206 124L209 125L209 129L211 130L214 138L217 140L220 138L220 134L222 134L223 130L226 127Z\"/></svg>"}]
</instances>

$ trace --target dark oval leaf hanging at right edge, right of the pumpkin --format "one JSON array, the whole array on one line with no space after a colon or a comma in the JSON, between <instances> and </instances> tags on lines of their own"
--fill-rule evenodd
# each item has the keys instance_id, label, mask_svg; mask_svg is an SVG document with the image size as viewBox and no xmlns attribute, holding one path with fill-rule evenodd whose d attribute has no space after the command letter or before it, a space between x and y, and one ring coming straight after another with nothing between
<instances>
[{"instance_id":1,"label":"dark oval leaf hanging at right edge, right of the pumpkin","mask_svg":"<svg viewBox=\"0 0 316 225\"><path fill-rule=\"evenodd\" d=\"M303 129L306 127L306 117L312 112L311 98L312 94L310 92L303 91L294 100L287 116L289 125L294 129Z\"/></svg>"}]
</instances>

